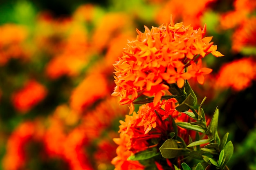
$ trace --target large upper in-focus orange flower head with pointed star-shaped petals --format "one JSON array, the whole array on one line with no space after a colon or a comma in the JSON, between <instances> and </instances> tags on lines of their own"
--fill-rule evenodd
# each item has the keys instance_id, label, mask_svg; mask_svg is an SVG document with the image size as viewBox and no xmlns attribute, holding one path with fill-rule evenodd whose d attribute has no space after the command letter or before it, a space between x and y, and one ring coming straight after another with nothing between
<instances>
[{"instance_id":1,"label":"large upper in-focus orange flower head with pointed star-shaped petals","mask_svg":"<svg viewBox=\"0 0 256 170\"><path fill-rule=\"evenodd\" d=\"M129 41L123 56L115 66L115 90L113 96L120 96L120 104L132 104L140 95L155 96L154 106L168 90L168 84L177 83L179 88L191 77L199 77L211 72L195 64L209 53L223 56L210 42L212 37L204 37L203 30L193 30L181 23L148 29L145 33L137 29L137 39ZM192 65L187 70L187 67ZM129 98L129 96L131 96ZM131 107L132 108L132 107Z\"/></svg>"}]
</instances>

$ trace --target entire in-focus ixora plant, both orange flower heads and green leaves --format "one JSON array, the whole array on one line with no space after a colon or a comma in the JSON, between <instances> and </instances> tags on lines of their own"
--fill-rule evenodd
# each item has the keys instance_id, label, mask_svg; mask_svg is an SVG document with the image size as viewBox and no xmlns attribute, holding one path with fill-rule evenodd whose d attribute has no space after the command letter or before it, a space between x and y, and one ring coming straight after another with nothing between
<instances>
[{"instance_id":1,"label":"entire in-focus ixora plant, both orange flower heads and green leaves","mask_svg":"<svg viewBox=\"0 0 256 170\"><path fill-rule=\"evenodd\" d=\"M223 56L205 32L206 26L194 30L175 24L171 16L170 24L145 26L145 33L137 30L137 39L128 41L113 64L112 95L121 105L130 104L114 139L119 145L115 170L228 169L234 148L229 133L218 135L218 108L208 119L202 108L206 97L198 105L188 82L196 77L203 84L203 75L211 73L202 67L203 57Z\"/></svg>"}]
</instances>

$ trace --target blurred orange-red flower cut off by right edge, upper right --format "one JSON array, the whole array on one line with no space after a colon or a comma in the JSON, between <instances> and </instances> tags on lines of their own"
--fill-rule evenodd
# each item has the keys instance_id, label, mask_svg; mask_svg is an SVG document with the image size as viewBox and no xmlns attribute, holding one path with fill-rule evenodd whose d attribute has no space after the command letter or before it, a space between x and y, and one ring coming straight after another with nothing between
<instances>
[{"instance_id":1,"label":"blurred orange-red flower cut off by right edge, upper right","mask_svg":"<svg viewBox=\"0 0 256 170\"><path fill-rule=\"evenodd\" d=\"M235 52L243 51L246 47L256 47L256 17L244 20L232 36L232 49Z\"/></svg>"}]
</instances>

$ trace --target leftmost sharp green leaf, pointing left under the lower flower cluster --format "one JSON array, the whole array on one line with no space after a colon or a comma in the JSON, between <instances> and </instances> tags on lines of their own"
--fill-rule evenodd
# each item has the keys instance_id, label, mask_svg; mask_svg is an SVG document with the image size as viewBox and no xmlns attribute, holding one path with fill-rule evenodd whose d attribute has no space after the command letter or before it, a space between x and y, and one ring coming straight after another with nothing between
<instances>
[{"instance_id":1,"label":"leftmost sharp green leaf, pointing left under the lower flower cluster","mask_svg":"<svg viewBox=\"0 0 256 170\"><path fill-rule=\"evenodd\" d=\"M135 155L128 157L128 160L132 160L132 161L145 160L145 159L150 159L152 157L155 157L157 155L160 155L160 153L157 152L157 148L153 148L153 150L144 150L144 151L135 153Z\"/></svg>"}]
</instances>

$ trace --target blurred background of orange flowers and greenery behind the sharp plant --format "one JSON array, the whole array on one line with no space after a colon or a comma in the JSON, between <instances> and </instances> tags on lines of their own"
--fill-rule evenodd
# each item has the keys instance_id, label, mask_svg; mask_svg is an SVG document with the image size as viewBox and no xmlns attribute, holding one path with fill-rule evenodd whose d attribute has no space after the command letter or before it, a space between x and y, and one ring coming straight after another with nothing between
<instances>
[{"instance_id":1,"label":"blurred background of orange flowers and greenery behind the sharp plant","mask_svg":"<svg viewBox=\"0 0 256 170\"><path fill-rule=\"evenodd\" d=\"M0 1L0 170L113 170L119 120L112 66L136 28L207 24L225 57L190 84L234 144L230 169L256 170L255 0Z\"/></svg>"}]
</instances>

